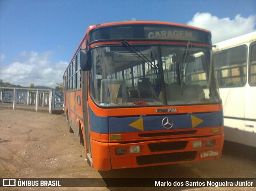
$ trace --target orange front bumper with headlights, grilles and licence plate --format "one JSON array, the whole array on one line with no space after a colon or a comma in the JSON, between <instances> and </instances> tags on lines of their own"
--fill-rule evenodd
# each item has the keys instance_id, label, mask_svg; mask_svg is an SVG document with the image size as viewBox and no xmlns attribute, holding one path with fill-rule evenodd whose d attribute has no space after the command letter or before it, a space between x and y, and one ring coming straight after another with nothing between
<instances>
[{"instance_id":1,"label":"orange front bumper with headlights, grilles and licence plate","mask_svg":"<svg viewBox=\"0 0 256 191\"><path fill-rule=\"evenodd\" d=\"M120 169L217 159L222 154L223 142L224 134L131 144L109 143L111 167Z\"/></svg>"}]
</instances>

